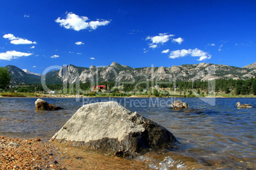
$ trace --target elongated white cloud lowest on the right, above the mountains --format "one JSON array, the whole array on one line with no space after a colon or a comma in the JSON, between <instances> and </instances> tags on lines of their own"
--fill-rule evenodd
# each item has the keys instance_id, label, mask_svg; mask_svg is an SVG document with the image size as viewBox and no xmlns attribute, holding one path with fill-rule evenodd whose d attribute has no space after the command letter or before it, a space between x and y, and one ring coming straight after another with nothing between
<instances>
[{"instance_id":1,"label":"elongated white cloud lowest on the right, above the mountains","mask_svg":"<svg viewBox=\"0 0 256 170\"><path fill-rule=\"evenodd\" d=\"M202 51L201 49L178 49L176 51L171 51L169 58L180 58L183 56L199 56L200 58L197 59L198 61L210 59L211 55L208 55L208 53Z\"/></svg>"}]
</instances>

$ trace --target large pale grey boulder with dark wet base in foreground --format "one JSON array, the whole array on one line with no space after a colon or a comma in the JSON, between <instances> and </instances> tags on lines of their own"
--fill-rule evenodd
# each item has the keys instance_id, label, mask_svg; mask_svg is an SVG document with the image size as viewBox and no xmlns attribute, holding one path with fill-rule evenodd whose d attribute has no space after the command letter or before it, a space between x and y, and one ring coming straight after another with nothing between
<instances>
[{"instance_id":1,"label":"large pale grey boulder with dark wet base in foreground","mask_svg":"<svg viewBox=\"0 0 256 170\"><path fill-rule=\"evenodd\" d=\"M115 101L83 105L51 141L124 156L143 148L171 148L177 142L166 128Z\"/></svg>"}]
</instances>

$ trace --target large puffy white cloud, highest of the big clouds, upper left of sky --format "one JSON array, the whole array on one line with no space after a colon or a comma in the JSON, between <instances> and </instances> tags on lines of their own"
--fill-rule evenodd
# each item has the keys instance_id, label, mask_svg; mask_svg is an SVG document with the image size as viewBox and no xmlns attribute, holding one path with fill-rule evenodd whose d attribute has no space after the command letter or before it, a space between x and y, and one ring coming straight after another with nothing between
<instances>
[{"instance_id":1,"label":"large puffy white cloud, highest of the big clouds, upper left of sky","mask_svg":"<svg viewBox=\"0 0 256 170\"><path fill-rule=\"evenodd\" d=\"M59 23L60 27L64 27L66 29L73 29L76 31L83 29L92 29L95 30L97 27L102 25L108 25L110 21L108 20L97 20L89 22L89 18L87 16L78 16L75 13L69 12L66 16L66 19L57 18L55 22Z\"/></svg>"}]
</instances>

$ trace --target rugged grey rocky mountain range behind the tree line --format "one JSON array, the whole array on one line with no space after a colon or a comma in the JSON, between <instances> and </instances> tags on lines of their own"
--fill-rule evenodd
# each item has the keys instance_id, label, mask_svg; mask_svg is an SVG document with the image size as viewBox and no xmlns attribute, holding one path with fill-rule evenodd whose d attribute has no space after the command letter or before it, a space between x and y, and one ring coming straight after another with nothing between
<instances>
[{"instance_id":1,"label":"rugged grey rocky mountain range behind the tree line","mask_svg":"<svg viewBox=\"0 0 256 170\"><path fill-rule=\"evenodd\" d=\"M256 76L256 62L239 68L229 65L199 63L172 67L132 68L116 62L106 67L77 67L66 65L60 70L52 70L45 75L22 70L14 65L6 66L11 73L11 84L41 83L41 76L46 84L63 82L132 82L132 81L210 81L215 79L250 79Z\"/></svg>"}]
</instances>

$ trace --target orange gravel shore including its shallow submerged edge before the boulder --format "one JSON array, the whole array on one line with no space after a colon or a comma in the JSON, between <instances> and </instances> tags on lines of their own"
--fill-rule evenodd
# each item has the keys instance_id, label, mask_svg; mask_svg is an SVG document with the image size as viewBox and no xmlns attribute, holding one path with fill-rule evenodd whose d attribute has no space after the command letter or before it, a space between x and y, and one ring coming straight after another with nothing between
<instances>
[{"instance_id":1,"label":"orange gravel shore including its shallow submerged edge before the boulder","mask_svg":"<svg viewBox=\"0 0 256 170\"><path fill-rule=\"evenodd\" d=\"M0 169L150 169L145 162L39 139L0 135Z\"/></svg>"}]
</instances>

